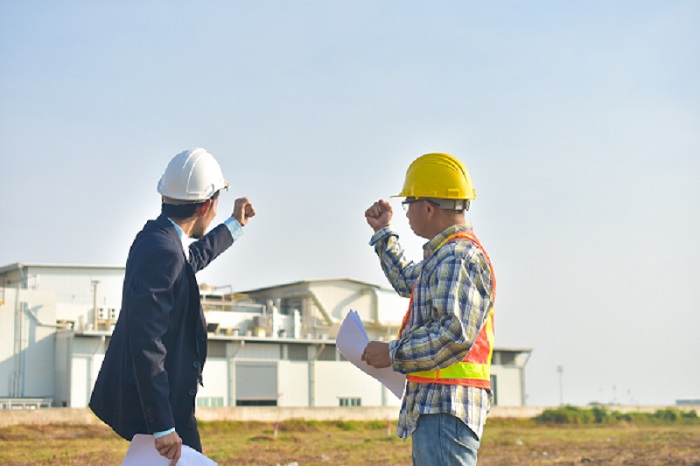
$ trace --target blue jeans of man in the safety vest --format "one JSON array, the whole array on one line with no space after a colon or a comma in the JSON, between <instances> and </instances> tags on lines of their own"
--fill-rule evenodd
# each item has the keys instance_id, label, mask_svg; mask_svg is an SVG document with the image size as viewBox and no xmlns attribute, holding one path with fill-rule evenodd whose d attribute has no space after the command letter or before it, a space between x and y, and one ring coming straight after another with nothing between
<instances>
[{"instance_id":1,"label":"blue jeans of man in the safety vest","mask_svg":"<svg viewBox=\"0 0 700 466\"><path fill-rule=\"evenodd\" d=\"M414 466L475 466L479 438L450 414L421 414L412 434Z\"/></svg>"}]
</instances>

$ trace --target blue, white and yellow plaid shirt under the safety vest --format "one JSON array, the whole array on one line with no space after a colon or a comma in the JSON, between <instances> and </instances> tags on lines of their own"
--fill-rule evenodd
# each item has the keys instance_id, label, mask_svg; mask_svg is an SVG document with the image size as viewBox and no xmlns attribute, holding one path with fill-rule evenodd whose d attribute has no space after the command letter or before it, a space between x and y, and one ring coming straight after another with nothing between
<instances>
[{"instance_id":1,"label":"blue, white and yellow plaid shirt under the safety vest","mask_svg":"<svg viewBox=\"0 0 700 466\"><path fill-rule=\"evenodd\" d=\"M424 259L417 264L405 258L389 227L372 236L370 245L394 289L409 297L416 285L401 336L389 343L394 370L408 374L462 361L486 323L493 305L486 256L465 240L437 249L449 235L471 230L468 224L447 228L423 246ZM491 398L490 390L475 387L408 382L396 434L408 438L421 414L447 413L481 438Z\"/></svg>"}]
</instances>

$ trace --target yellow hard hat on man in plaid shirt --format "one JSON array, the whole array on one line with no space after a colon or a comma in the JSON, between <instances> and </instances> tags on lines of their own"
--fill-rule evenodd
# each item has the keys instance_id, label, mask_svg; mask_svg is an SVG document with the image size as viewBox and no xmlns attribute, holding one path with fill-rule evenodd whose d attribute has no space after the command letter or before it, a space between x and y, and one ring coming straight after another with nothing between
<instances>
[{"instance_id":1,"label":"yellow hard hat on man in plaid shirt","mask_svg":"<svg viewBox=\"0 0 700 466\"><path fill-rule=\"evenodd\" d=\"M434 199L476 199L469 172L450 154L432 153L418 157L406 170L401 193L392 197Z\"/></svg>"}]
</instances>

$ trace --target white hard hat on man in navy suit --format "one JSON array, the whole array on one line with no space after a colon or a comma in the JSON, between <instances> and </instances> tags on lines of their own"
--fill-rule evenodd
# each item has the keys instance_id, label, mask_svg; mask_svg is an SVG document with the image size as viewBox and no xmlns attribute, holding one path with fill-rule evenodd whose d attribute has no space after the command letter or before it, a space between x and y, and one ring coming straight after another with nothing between
<instances>
[{"instance_id":1,"label":"white hard hat on man in navy suit","mask_svg":"<svg viewBox=\"0 0 700 466\"><path fill-rule=\"evenodd\" d=\"M219 162L202 148L177 154L158 182L158 192L180 201L206 201L220 189L228 189Z\"/></svg>"}]
</instances>

